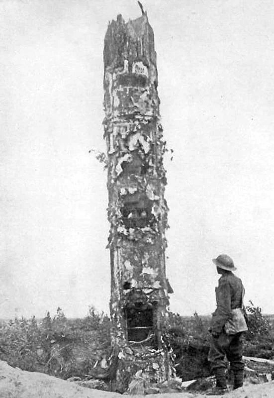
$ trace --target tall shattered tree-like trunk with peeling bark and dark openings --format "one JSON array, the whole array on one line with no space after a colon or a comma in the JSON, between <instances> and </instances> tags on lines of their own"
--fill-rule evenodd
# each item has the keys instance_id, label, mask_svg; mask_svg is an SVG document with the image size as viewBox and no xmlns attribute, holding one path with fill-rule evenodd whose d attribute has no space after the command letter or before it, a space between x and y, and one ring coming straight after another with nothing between
<instances>
[{"instance_id":1,"label":"tall shattered tree-like trunk with peeling bark and dark openings","mask_svg":"<svg viewBox=\"0 0 274 398\"><path fill-rule=\"evenodd\" d=\"M172 289L166 279L166 143L157 86L154 33L146 12L127 23L118 15L104 39L103 126L111 341L119 352L116 388L121 391L139 370L157 382L168 380L172 372L163 340Z\"/></svg>"}]
</instances>

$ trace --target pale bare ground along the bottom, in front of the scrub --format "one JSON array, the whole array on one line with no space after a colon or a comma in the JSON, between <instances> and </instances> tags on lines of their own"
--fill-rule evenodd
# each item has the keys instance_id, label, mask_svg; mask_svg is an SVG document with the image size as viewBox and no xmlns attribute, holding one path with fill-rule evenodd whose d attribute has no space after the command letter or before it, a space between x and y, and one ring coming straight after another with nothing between
<instances>
[{"instance_id":1,"label":"pale bare ground along the bottom, in front of the scrub","mask_svg":"<svg viewBox=\"0 0 274 398\"><path fill-rule=\"evenodd\" d=\"M38 372L14 369L0 361L1 398L118 398L120 394L91 390L69 381ZM138 397L138 396L135 396ZM140 397L140 396L139 396ZM187 392L147 395L147 398L204 398L202 394ZM274 382L248 385L227 393L230 398L273 398Z\"/></svg>"}]
</instances>

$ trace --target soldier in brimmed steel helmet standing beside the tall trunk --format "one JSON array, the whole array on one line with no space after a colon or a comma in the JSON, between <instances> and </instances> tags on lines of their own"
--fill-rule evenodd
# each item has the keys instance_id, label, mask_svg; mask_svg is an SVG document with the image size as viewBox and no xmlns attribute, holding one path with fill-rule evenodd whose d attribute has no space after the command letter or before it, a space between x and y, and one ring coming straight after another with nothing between
<instances>
[{"instance_id":1,"label":"soldier in brimmed steel helmet standing beside the tall trunk","mask_svg":"<svg viewBox=\"0 0 274 398\"><path fill-rule=\"evenodd\" d=\"M232 309L243 307L244 287L241 279L232 272L236 270L232 258L221 254L212 261L221 277L218 287L215 289L217 308L212 314L209 328L212 339L208 361L216 376L216 387L208 395L222 395L228 391L225 356L230 362L230 369L234 374L234 390L243 386L242 332L227 334L225 324L231 319Z\"/></svg>"}]
</instances>

